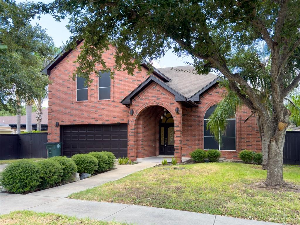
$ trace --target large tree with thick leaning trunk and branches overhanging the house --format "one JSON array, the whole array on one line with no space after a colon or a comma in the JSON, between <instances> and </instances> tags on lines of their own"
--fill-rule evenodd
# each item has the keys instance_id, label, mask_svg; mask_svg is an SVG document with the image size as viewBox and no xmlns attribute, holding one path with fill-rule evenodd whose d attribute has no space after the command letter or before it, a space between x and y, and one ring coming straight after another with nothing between
<instances>
[{"instance_id":1,"label":"large tree with thick leaning trunk and branches overhanging the house","mask_svg":"<svg viewBox=\"0 0 300 225\"><path fill-rule=\"evenodd\" d=\"M86 78L97 72L96 63L105 67L102 52L109 44L118 47L113 69L129 74L143 58L160 58L170 48L190 55L199 74L220 72L259 116L268 142L265 184L285 184L283 144L290 111L283 101L300 80L300 1L62 0L44 6L49 12L57 20L70 15L70 47L76 39L85 40L75 72ZM270 52L268 65L260 60L261 44ZM265 83L253 85L260 80ZM266 98L258 94L262 86L269 87Z\"/></svg>"}]
</instances>

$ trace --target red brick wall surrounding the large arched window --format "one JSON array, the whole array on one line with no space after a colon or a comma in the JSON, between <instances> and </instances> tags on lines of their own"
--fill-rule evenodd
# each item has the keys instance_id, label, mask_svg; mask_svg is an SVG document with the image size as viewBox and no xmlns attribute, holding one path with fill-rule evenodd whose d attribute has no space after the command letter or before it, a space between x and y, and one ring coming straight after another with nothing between
<instances>
[{"instance_id":1,"label":"red brick wall surrounding the large arched window","mask_svg":"<svg viewBox=\"0 0 300 225\"><path fill-rule=\"evenodd\" d=\"M209 107L217 104L222 99L222 93L226 90L217 85L210 88L200 96L199 107L185 108L182 114L182 155L190 157L190 152L199 148L203 149L203 124L204 114ZM256 118L252 116L246 123L244 120L251 111L243 106L236 112L236 151L221 151L222 157L237 159L241 150L247 149L261 152L261 141L256 125Z\"/></svg>"}]
</instances>

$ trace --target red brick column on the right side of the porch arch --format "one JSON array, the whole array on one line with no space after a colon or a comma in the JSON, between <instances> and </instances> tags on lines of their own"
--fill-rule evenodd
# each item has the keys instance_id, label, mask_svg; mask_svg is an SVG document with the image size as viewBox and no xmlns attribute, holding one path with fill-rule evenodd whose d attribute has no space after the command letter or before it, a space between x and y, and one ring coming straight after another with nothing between
<instances>
[{"instance_id":1,"label":"red brick column on the right side of the porch arch","mask_svg":"<svg viewBox=\"0 0 300 225\"><path fill-rule=\"evenodd\" d=\"M178 160L179 163L182 162L182 108L179 108L179 114L176 114L174 118L174 157Z\"/></svg>"}]
</instances>

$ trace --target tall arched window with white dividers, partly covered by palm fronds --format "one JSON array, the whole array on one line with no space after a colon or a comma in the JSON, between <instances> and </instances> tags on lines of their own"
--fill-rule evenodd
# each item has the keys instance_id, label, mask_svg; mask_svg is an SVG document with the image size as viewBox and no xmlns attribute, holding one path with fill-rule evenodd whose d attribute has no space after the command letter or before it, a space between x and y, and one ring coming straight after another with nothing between
<instances>
[{"instance_id":1,"label":"tall arched window with white dividers, partly covered by palm fronds","mask_svg":"<svg viewBox=\"0 0 300 225\"><path fill-rule=\"evenodd\" d=\"M225 134L221 137L222 145L220 145L215 139L209 129L206 129L208 117L214 112L217 105L210 107L204 115L204 149L219 149L227 151L235 151L235 115L229 116L227 119L227 129Z\"/></svg>"}]
</instances>

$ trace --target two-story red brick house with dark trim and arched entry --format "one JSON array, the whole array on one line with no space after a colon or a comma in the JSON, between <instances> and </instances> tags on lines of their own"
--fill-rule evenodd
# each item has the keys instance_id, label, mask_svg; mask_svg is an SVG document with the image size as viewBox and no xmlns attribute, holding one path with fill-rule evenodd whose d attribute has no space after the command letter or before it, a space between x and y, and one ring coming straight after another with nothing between
<instances>
[{"instance_id":1,"label":"two-story red brick house with dark trim and arched entry","mask_svg":"<svg viewBox=\"0 0 300 225\"><path fill-rule=\"evenodd\" d=\"M62 52L43 72L49 75L48 141L63 142L61 154L72 156L91 151L111 151L132 160L156 155L174 155L181 161L196 148L218 149L228 159L243 149L261 151L255 117L247 107L228 118L229 127L220 146L206 130L206 121L222 93L216 75L184 72L191 66L155 69L147 75L147 64L130 76L126 71L110 73L96 65L93 82L70 77L76 68L76 49ZM103 55L114 66L115 47Z\"/></svg>"}]
</instances>

